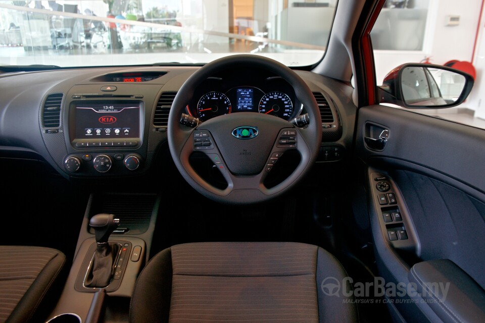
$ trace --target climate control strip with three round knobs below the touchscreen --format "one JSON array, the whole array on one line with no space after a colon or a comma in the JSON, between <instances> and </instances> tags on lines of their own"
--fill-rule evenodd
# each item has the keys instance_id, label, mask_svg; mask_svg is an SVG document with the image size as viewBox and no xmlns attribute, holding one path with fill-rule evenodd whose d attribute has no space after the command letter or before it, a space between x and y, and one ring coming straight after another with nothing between
<instances>
[{"instance_id":1,"label":"climate control strip with three round knobs below the touchscreen","mask_svg":"<svg viewBox=\"0 0 485 323\"><path fill-rule=\"evenodd\" d=\"M64 168L73 175L127 174L141 166L142 157L132 152L70 154L64 159Z\"/></svg>"}]
</instances>

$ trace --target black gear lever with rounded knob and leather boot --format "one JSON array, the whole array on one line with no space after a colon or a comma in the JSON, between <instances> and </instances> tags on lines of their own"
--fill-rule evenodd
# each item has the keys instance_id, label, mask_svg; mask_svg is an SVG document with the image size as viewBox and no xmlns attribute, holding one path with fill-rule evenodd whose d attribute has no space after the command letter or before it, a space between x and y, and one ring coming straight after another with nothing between
<instances>
[{"instance_id":1,"label":"black gear lever with rounded knob and leather boot","mask_svg":"<svg viewBox=\"0 0 485 323\"><path fill-rule=\"evenodd\" d=\"M120 245L110 244L108 239L119 224L119 219L107 213L96 214L89 220L89 225L94 229L96 237L96 251L84 286L103 288L109 285Z\"/></svg>"}]
</instances>

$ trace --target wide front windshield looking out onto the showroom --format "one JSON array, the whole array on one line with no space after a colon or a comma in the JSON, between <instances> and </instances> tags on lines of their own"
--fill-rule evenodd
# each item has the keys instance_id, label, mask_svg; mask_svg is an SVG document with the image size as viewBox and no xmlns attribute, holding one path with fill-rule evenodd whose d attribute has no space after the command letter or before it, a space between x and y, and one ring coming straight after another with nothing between
<instances>
[{"instance_id":1,"label":"wide front windshield looking out onto the showroom","mask_svg":"<svg viewBox=\"0 0 485 323\"><path fill-rule=\"evenodd\" d=\"M0 65L319 62L336 0L0 1Z\"/></svg>"}]
</instances>

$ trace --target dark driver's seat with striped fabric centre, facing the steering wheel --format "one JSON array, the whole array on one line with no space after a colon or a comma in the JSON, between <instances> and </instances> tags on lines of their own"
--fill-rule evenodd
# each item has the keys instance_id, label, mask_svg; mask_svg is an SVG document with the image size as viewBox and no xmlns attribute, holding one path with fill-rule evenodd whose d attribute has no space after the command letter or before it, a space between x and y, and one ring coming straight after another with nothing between
<instances>
[{"instance_id":1,"label":"dark driver's seat with striped fabric centre, facing the steering wheel","mask_svg":"<svg viewBox=\"0 0 485 323\"><path fill-rule=\"evenodd\" d=\"M352 296L328 292L326 285L340 289L345 277L333 255L304 243L179 244L159 252L140 273L130 321L355 322Z\"/></svg>"}]
</instances>

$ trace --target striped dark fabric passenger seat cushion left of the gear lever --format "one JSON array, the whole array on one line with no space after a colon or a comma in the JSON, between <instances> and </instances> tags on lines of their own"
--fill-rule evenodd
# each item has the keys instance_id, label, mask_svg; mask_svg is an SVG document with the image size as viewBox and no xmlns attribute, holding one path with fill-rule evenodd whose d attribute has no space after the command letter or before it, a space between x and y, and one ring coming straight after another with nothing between
<instances>
[{"instance_id":1,"label":"striped dark fabric passenger seat cushion left of the gear lever","mask_svg":"<svg viewBox=\"0 0 485 323\"><path fill-rule=\"evenodd\" d=\"M65 255L51 248L0 246L0 322L44 318L44 301L65 262Z\"/></svg>"}]
</instances>

